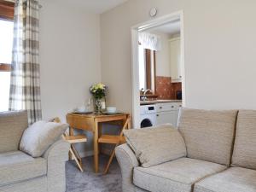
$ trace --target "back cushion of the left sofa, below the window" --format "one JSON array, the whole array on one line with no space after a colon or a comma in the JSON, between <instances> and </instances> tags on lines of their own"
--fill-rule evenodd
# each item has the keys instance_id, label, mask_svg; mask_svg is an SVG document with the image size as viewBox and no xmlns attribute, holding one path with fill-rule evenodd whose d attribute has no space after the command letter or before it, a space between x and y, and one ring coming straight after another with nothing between
<instances>
[{"instance_id":1,"label":"back cushion of the left sofa, below the window","mask_svg":"<svg viewBox=\"0 0 256 192\"><path fill-rule=\"evenodd\" d=\"M0 153L18 150L27 126L26 111L0 113Z\"/></svg>"}]
</instances>

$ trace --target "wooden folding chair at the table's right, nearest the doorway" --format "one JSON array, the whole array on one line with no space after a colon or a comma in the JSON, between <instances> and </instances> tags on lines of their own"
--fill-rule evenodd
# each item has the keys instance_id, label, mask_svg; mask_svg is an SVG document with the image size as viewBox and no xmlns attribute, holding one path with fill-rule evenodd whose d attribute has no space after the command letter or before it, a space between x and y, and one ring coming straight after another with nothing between
<instances>
[{"instance_id":1,"label":"wooden folding chair at the table's right, nearest the doorway","mask_svg":"<svg viewBox=\"0 0 256 192\"><path fill-rule=\"evenodd\" d=\"M125 137L124 137L124 131L126 129L130 129L131 128L131 117L130 115L127 117L126 121L125 121L125 125L123 125L123 128L120 132L119 135L117 136L113 136L113 135L102 135L101 137L99 137L98 139L98 143L108 143L108 144L115 144L115 147L113 148L112 153L110 154L109 160L108 160L108 164L104 170L104 174L108 173L108 169L109 166L113 160L113 156L114 156L114 149L122 143L126 143L125 141Z\"/></svg>"}]
</instances>

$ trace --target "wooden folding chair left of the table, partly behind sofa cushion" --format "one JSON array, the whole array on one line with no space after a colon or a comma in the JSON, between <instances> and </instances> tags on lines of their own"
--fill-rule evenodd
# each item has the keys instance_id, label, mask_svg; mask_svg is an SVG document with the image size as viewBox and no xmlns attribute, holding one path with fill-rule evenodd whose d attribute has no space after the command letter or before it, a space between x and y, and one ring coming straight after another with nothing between
<instances>
[{"instance_id":1,"label":"wooden folding chair left of the table, partly behind sofa cushion","mask_svg":"<svg viewBox=\"0 0 256 192\"><path fill-rule=\"evenodd\" d=\"M56 123L61 123L61 119L55 118L52 119L51 121L56 122ZM79 155L79 152L74 146L74 143L84 143L87 142L87 138L85 135L77 135L77 136L69 136L67 132L65 132L62 135L62 138L66 140L68 143L70 143L70 149L69 149L69 160L73 159L76 161L77 165L79 166L79 170L81 172L84 172L83 165L82 165L82 159Z\"/></svg>"}]
</instances>

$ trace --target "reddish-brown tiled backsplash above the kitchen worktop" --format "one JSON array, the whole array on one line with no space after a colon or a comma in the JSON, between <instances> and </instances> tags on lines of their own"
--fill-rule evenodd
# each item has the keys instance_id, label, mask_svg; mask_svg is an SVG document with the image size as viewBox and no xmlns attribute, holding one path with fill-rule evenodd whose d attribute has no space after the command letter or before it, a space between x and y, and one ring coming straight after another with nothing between
<instances>
[{"instance_id":1,"label":"reddish-brown tiled backsplash above the kitchen worktop","mask_svg":"<svg viewBox=\"0 0 256 192\"><path fill-rule=\"evenodd\" d=\"M158 99L176 99L177 90L182 90L182 84L172 83L171 77L156 76L155 83Z\"/></svg>"}]
</instances>

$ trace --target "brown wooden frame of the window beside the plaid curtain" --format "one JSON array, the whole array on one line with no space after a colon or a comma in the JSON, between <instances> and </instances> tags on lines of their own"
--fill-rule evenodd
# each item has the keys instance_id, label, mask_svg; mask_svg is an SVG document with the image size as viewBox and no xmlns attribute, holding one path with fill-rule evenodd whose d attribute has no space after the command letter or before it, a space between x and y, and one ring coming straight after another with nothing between
<instances>
[{"instance_id":1,"label":"brown wooden frame of the window beside the plaid curtain","mask_svg":"<svg viewBox=\"0 0 256 192\"><path fill-rule=\"evenodd\" d=\"M15 3L0 0L0 20L14 21ZM0 63L0 72L11 72L11 63Z\"/></svg>"}]
</instances>

